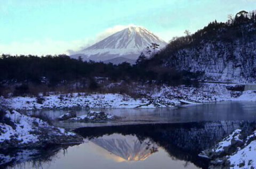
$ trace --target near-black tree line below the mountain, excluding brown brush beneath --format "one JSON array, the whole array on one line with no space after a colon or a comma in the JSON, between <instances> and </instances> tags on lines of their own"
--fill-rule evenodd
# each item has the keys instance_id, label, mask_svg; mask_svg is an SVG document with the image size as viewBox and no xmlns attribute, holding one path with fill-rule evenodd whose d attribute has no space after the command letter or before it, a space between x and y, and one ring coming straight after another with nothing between
<instances>
[{"instance_id":1,"label":"near-black tree line below the mountain, excluding brown brush beneath","mask_svg":"<svg viewBox=\"0 0 256 169\"><path fill-rule=\"evenodd\" d=\"M196 79L195 74L178 72L174 69L163 69L151 65L147 60L138 61L137 64L121 63L119 65L102 62L82 61L70 58L67 55L58 56L10 56L0 57L0 82L31 82L40 84L45 79L49 86L61 82L72 82L80 79L105 77L111 81L154 81L180 85L191 83Z\"/></svg>"}]
</instances>

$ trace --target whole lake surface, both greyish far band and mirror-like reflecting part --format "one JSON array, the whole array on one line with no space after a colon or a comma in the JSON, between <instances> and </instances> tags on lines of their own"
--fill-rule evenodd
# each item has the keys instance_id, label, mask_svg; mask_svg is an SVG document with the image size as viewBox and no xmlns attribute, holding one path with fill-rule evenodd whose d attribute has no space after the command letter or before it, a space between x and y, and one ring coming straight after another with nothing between
<instances>
[{"instance_id":1,"label":"whole lake surface, both greyish far band and mirror-like reflecting part","mask_svg":"<svg viewBox=\"0 0 256 169\"><path fill-rule=\"evenodd\" d=\"M198 153L235 129L254 130L255 110L254 102L175 109L106 109L126 118L108 123L56 123L75 129L85 142L70 147L23 150L18 154L6 152L6 156L13 158L2 167L207 168L207 160L199 158ZM55 119L66 112L44 111L42 114Z\"/></svg>"}]
</instances>

